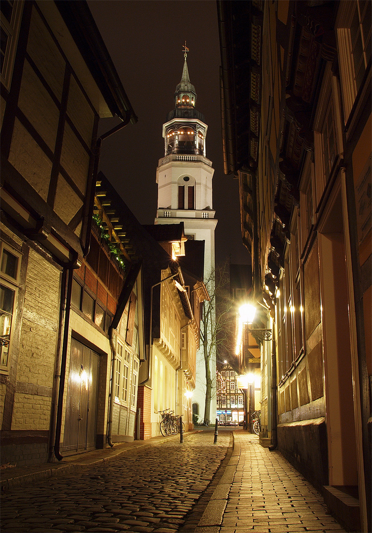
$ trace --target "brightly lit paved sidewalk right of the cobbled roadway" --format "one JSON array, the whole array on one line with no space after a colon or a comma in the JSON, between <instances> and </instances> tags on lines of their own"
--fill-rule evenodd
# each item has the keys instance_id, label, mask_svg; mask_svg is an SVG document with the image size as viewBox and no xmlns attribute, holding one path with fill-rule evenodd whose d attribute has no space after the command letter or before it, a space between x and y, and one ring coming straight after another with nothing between
<instances>
[{"instance_id":1,"label":"brightly lit paved sidewalk right of the cobbled roadway","mask_svg":"<svg viewBox=\"0 0 372 533\"><path fill-rule=\"evenodd\" d=\"M234 451L196 533L345 533L320 493L279 451L234 431Z\"/></svg>"}]
</instances>

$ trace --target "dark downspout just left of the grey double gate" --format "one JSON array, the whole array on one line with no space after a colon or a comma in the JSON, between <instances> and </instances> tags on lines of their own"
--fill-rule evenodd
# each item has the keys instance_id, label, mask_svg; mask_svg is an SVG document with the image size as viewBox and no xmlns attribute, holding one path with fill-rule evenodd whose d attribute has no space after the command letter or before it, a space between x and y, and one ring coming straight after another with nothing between
<instances>
[{"instance_id":1,"label":"dark downspout just left of the grey double gate","mask_svg":"<svg viewBox=\"0 0 372 533\"><path fill-rule=\"evenodd\" d=\"M62 356L61 356L61 375L60 375L60 386L58 391L58 405L57 405L57 416L56 416L56 426L55 426L55 441L54 441L54 455L61 461L63 456L60 453L61 446L61 427L62 427L62 410L63 410L63 393L64 393L64 382L66 376L66 364L67 364L67 347L69 343L69 327L70 327L70 310L71 310L71 294L72 294L72 280L73 280L73 269L69 268L67 270L67 295L65 301L65 314L64 314L64 331L63 331L63 345L62 345Z\"/></svg>"}]
</instances>

